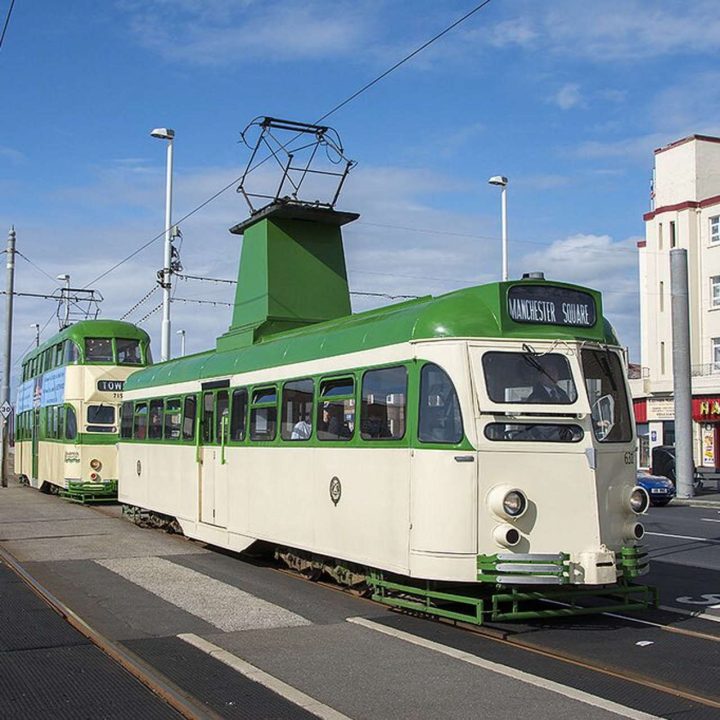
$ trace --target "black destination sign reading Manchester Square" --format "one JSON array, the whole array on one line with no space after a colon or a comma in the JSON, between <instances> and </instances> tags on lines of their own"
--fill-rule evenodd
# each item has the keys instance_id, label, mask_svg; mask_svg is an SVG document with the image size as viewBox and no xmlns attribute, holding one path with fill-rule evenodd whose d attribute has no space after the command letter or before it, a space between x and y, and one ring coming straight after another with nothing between
<instances>
[{"instance_id":1,"label":"black destination sign reading Manchester Square","mask_svg":"<svg viewBox=\"0 0 720 720\"><path fill-rule=\"evenodd\" d=\"M519 323L594 327L597 310L592 295L548 285L515 285L508 289L508 314Z\"/></svg>"}]
</instances>

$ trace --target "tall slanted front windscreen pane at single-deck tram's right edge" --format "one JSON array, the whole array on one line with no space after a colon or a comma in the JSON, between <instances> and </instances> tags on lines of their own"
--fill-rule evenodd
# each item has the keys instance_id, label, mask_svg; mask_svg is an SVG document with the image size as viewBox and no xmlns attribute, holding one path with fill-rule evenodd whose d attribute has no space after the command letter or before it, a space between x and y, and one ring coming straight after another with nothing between
<instances>
[{"instance_id":1,"label":"tall slanted front windscreen pane at single-deck tram's right edge","mask_svg":"<svg viewBox=\"0 0 720 720\"><path fill-rule=\"evenodd\" d=\"M620 358L605 350L583 350L581 357L595 438L630 442L632 422Z\"/></svg>"}]
</instances>

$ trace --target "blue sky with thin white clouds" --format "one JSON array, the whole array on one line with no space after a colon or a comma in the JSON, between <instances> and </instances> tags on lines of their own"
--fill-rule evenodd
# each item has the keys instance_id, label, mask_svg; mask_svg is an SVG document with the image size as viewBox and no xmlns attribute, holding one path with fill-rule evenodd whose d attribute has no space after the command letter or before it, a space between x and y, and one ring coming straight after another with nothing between
<instances>
[{"instance_id":1,"label":"blue sky with thin white clouds","mask_svg":"<svg viewBox=\"0 0 720 720\"><path fill-rule=\"evenodd\" d=\"M241 174L253 117L314 121L475 4L17 0L0 49L0 230L14 224L18 250L85 285L162 232L165 147L150 129L176 132L177 218ZM361 213L346 232L352 289L497 279L500 197L487 179L503 174L511 276L602 290L639 360L635 243L652 151L720 134L719 26L704 0L492 0L328 120L358 161L339 202ZM182 223L185 271L234 278L240 240L227 229L246 214L231 189ZM159 241L100 281L103 316L129 310L161 265ZM17 290L58 284L19 260ZM177 297L226 302L232 289L185 281ZM14 362L30 323L51 316L48 301L18 299ZM190 352L229 319L223 306L173 306ZM159 355L160 313L143 327Z\"/></svg>"}]
</instances>

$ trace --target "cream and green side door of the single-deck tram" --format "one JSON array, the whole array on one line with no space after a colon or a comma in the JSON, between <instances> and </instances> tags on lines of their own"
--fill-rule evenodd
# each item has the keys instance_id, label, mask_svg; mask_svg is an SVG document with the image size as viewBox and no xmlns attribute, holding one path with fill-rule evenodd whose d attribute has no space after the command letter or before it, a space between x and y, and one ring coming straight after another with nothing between
<instances>
[{"instance_id":1,"label":"cream and green side door of the single-deck tram","mask_svg":"<svg viewBox=\"0 0 720 720\"><path fill-rule=\"evenodd\" d=\"M200 416L200 522L219 527L227 525L227 403L227 390L204 392Z\"/></svg>"}]
</instances>

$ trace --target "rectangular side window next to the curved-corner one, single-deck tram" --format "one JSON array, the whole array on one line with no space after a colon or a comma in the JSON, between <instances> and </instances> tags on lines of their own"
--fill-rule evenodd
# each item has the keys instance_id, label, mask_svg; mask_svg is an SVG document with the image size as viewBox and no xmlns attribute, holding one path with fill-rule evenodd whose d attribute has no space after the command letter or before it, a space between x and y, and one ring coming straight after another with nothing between
<instances>
[{"instance_id":1,"label":"rectangular side window next to the curved-corner one, single-deck tram","mask_svg":"<svg viewBox=\"0 0 720 720\"><path fill-rule=\"evenodd\" d=\"M369 370L363 375L360 434L364 440L398 440L405 434L407 369Z\"/></svg>"}]
</instances>

